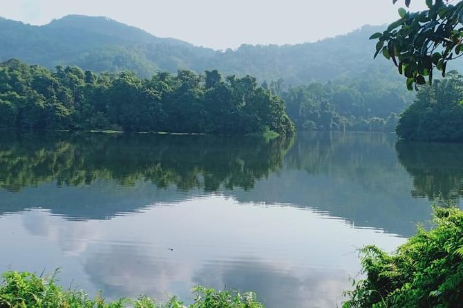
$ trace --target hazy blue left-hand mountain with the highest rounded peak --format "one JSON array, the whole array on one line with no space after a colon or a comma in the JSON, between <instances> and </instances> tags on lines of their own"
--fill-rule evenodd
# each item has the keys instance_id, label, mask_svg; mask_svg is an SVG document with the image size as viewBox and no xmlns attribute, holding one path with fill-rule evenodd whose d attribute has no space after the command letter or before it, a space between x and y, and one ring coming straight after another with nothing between
<instances>
[{"instance_id":1,"label":"hazy blue left-hand mountain with the highest rounded peak","mask_svg":"<svg viewBox=\"0 0 463 308\"><path fill-rule=\"evenodd\" d=\"M162 39L106 17L70 15L45 26L0 20L0 59L19 58L53 68L75 65L97 71L198 69L214 50Z\"/></svg>"}]
</instances>

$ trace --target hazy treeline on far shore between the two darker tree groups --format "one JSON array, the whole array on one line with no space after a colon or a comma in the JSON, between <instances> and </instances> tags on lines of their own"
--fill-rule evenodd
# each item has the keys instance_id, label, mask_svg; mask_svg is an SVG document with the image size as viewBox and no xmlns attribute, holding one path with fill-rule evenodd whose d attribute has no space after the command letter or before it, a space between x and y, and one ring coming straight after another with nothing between
<instances>
[{"instance_id":1,"label":"hazy treeline on far shore between the two darker tree groups","mask_svg":"<svg viewBox=\"0 0 463 308\"><path fill-rule=\"evenodd\" d=\"M270 84L278 89L278 84ZM281 93L287 114L310 131L395 131L398 114L412 102L401 84L378 77L338 79Z\"/></svg>"}]
</instances>

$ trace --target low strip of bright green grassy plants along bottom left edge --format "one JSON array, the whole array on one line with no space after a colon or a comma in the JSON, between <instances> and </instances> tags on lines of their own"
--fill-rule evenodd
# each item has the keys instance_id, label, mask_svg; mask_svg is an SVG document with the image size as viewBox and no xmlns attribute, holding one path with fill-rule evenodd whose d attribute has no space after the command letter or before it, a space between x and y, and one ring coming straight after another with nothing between
<instances>
[{"instance_id":1,"label":"low strip of bright green grassy plants along bottom left edge","mask_svg":"<svg viewBox=\"0 0 463 308\"><path fill-rule=\"evenodd\" d=\"M205 287L193 288L190 305L177 297L160 302L147 296L105 300L101 294L89 298L84 291L64 290L57 285L57 271L51 276L7 271L0 284L0 308L263 308L252 292L216 291Z\"/></svg>"}]
</instances>

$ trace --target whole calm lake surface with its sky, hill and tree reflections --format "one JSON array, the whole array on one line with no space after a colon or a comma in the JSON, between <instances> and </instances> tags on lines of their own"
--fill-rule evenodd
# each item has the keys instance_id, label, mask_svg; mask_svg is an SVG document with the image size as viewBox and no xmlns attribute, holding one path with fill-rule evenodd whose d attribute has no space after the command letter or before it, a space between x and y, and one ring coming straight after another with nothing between
<instances>
[{"instance_id":1,"label":"whole calm lake surface with its sky, hill and tree reflections","mask_svg":"<svg viewBox=\"0 0 463 308\"><path fill-rule=\"evenodd\" d=\"M0 271L61 267L108 298L206 285L335 307L357 248L393 251L430 199L460 200L461 153L368 133L0 135Z\"/></svg>"}]
</instances>

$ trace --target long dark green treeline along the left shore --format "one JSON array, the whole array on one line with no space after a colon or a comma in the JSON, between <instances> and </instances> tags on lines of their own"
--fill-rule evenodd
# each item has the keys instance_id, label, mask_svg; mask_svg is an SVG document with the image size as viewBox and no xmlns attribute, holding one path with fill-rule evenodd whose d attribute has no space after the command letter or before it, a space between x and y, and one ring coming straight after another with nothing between
<instances>
[{"instance_id":1,"label":"long dark green treeline along the left shore","mask_svg":"<svg viewBox=\"0 0 463 308\"><path fill-rule=\"evenodd\" d=\"M12 59L0 64L0 128L166 131L175 133L294 133L282 99L254 77L95 74L55 71Z\"/></svg>"}]
</instances>

